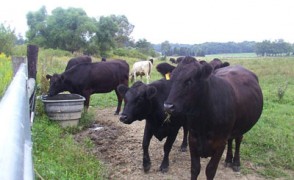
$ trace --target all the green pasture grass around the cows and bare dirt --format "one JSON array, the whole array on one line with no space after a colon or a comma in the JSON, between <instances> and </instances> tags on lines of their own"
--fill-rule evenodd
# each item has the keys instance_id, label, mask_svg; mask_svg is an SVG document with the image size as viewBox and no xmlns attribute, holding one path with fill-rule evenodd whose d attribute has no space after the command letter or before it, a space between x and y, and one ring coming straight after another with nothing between
<instances>
[{"instance_id":1,"label":"all the green pasture grass around the cows and bare dirt","mask_svg":"<svg viewBox=\"0 0 294 180\"><path fill-rule=\"evenodd\" d=\"M241 145L241 173L257 173L265 179L293 179L294 177L294 57L255 57L214 55L231 65L240 64L259 77L264 96L264 108L258 123L244 136ZM207 56L207 61L212 60ZM39 94L46 93L47 73L61 73L69 57L39 55ZM123 58L131 65L136 59ZM94 59L100 61L100 59ZM151 82L161 78L155 60ZM168 59L167 59L168 62ZM145 78L143 78L145 81ZM104 179L107 173L103 163L91 153L95 145L91 139L77 144L73 134L84 130L95 119L97 109L115 107L114 92L91 96L90 112L84 114L83 123L76 129L61 129L48 121L42 104L37 102L37 115L33 125L34 163L36 177L44 179ZM66 152L66 153L64 153ZM141 156L138 154L138 157ZM141 162L138 163L141 165ZM156 166L156 165L155 165ZM190 168L190 164L186 165ZM138 169L137 169L138 170ZM139 171L139 170L138 170ZM142 170L141 170L142 171ZM160 172L156 172L160 173ZM167 173L168 174L168 173Z\"/></svg>"}]
</instances>

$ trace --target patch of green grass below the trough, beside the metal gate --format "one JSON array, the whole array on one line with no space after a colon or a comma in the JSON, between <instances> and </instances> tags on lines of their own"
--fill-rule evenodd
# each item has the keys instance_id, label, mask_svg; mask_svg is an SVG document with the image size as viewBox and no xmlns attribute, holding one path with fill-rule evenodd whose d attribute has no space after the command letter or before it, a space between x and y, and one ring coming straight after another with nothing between
<instances>
[{"instance_id":1,"label":"patch of green grass below the trough, beside the metal gate","mask_svg":"<svg viewBox=\"0 0 294 180\"><path fill-rule=\"evenodd\" d=\"M88 125L93 115L83 114L77 128L61 128L43 112L37 102L38 115L32 128L33 159L37 179L104 179L105 170L99 160L88 151L93 143L86 139L77 143L73 133Z\"/></svg>"}]
</instances>

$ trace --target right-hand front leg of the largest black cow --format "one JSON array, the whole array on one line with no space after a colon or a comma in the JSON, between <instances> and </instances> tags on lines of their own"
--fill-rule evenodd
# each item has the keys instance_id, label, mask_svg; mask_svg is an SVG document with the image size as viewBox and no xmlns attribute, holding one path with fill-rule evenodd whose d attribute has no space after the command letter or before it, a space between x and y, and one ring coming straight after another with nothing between
<instances>
[{"instance_id":1,"label":"right-hand front leg of the largest black cow","mask_svg":"<svg viewBox=\"0 0 294 180\"><path fill-rule=\"evenodd\" d=\"M217 167L218 167L218 163L222 157L225 147L226 147L225 144L222 147L219 147L217 151L215 152L215 154L211 157L209 163L207 164L206 170L205 170L207 180L213 180Z\"/></svg>"}]
</instances>

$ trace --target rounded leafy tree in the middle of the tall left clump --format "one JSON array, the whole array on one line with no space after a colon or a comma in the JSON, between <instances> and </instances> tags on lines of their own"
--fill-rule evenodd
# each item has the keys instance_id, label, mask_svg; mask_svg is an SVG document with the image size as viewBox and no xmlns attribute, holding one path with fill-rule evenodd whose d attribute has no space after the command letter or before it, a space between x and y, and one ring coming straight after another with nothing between
<instances>
[{"instance_id":1,"label":"rounded leafy tree in the middle of the tall left clump","mask_svg":"<svg viewBox=\"0 0 294 180\"><path fill-rule=\"evenodd\" d=\"M70 52L87 48L86 44L96 31L93 19L80 8L56 8L47 22L48 48L59 48Z\"/></svg>"}]
</instances>

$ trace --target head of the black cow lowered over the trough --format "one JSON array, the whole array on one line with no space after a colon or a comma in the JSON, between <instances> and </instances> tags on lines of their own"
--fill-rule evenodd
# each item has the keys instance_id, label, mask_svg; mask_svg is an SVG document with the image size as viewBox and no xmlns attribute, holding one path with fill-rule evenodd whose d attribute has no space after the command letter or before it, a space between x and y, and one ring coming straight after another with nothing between
<instances>
[{"instance_id":1,"label":"head of the black cow lowered over the trough","mask_svg":"<svg viewBox=\"0 0 294 180\"><path fill-rule=\"evenodd\" d=\"M54 95L65 90L63 75L53 74L51 76L51 75L47 74L46 78L50 81L48 96L54 96Z\"/></svg>"}]
</instances>

